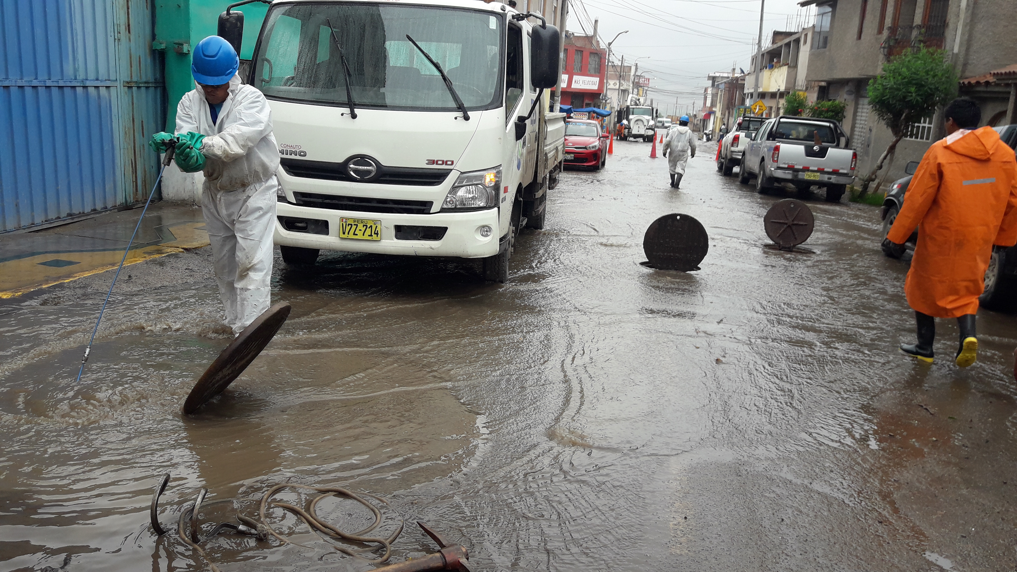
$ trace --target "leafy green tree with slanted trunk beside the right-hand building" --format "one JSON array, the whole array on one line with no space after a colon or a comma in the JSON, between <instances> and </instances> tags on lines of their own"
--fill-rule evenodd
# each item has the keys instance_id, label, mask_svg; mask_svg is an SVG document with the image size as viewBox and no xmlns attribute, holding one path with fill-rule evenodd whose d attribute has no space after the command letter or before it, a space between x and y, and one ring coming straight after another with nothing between
<instances>
[{"instance_id":1,"label":"leafy green tree with slanted trunk beside the right-hand building","mask_svg":"<svg viewBox=\"0 0 1017 572\"><path fill-rule=\"evenodd\" d=\"M872 172L861 179L861 196L869 192L869 185L887 158L893 157L911 125L956 96L959 78L946 56L944 50L929 48L904 52L885 64L883 73L869 82L870 109L890 128L893 140Z\"/></svg>"}]
</instances>

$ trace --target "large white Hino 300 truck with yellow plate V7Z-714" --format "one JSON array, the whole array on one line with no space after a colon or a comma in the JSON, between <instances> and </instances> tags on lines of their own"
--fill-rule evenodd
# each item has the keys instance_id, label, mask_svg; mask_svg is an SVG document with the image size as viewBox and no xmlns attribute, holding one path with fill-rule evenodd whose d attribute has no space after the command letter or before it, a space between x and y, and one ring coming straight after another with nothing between
<instances>
[{"instance_id":1,"label":"large white Hino 300 truck with yellow plate V7Z-714","mask_svg":"<svg viewBox=\"0 0 1017 572\"><path fill-rule=\"evenodd\" d=\"M220 16L239 46L241 12ZM559 34L476 0L273 2L248 82L272 107L282 165L275 241L483 259L504 282L516 236L541 229L563 159L548 111Z\"/></svg>"}]
</instances>

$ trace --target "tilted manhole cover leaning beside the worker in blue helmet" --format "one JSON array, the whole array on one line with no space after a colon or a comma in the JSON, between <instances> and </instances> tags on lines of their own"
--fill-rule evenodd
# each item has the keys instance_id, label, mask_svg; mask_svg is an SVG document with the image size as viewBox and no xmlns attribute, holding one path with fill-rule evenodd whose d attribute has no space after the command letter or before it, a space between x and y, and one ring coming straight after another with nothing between
<instances>
[{"instance_id":1,"label":"tilted manhole cover leaning beside the worker in blue helmet","mask_svg":"<svg viewBox=\"0 0 1017 572\"><path fill-rule=\"evenodd\" d=\"M283 323L290 316L290 309L288 302L279 302L244 328L244 331L220 352L219 357L194 384L187 400L184 401L184 414L190 415L197 411L210 399L223 393L233 380L243 374L264 346L268 345L276 332L283 327Z\"/></svg>"}]
</instances>

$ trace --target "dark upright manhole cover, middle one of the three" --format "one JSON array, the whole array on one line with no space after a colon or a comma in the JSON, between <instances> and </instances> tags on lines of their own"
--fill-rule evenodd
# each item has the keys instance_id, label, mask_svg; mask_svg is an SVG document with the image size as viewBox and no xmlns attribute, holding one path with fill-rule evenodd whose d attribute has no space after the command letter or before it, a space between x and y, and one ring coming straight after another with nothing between
<instances>
[{"instance_id":1,"label":"dark upright manhole cover, middle one of the three","mask_svg":"<svg viewBox=\"0 0 1017 572\"><path fill-rule=\"evenodd\" d=\"M710 237L703 224L680 213L653 221L643 237L647 266L661 270L699 270L710 249Z\"/></svg>"}]
</instances>

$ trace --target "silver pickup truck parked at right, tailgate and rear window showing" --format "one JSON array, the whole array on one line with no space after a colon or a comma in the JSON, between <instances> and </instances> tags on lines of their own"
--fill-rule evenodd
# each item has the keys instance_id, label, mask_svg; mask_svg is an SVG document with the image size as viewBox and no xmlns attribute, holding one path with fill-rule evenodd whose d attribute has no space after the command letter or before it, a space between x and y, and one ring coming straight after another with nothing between
<instances>
[{"instance_id":1,"label":"silver pickup truck parked at right, tailgate and rear window showing","mask_svg":"<svg viewBox=\"0 0 1017 572\"><path fill-rule=\"evenodd\" d=\"M837 203L854 180L858 154L832 119L781 115L764 123L741 155L738 182L756 176L756 190L766 193L786 183L798 189L826 187Z\"/></svg>"}]
</instances>

